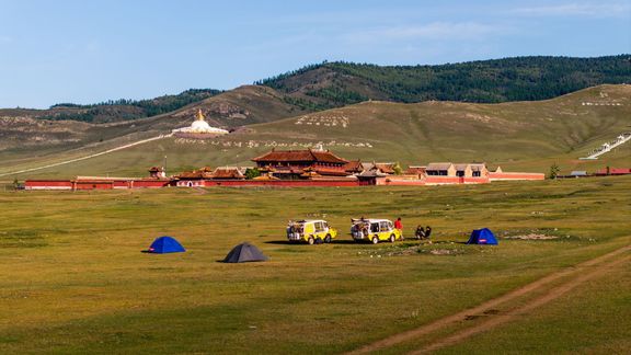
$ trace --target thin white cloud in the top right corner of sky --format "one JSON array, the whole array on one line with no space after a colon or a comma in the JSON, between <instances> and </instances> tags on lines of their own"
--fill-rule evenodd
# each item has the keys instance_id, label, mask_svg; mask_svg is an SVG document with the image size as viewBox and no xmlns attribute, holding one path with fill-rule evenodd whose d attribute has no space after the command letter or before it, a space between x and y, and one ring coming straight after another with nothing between
<instances>
[{"instance_id":1,"label":"thin white cloud in the top right corner of sky","mask_svg":"<svg viewBox=\"0 0 631 355\"><path fill-rule=\"evenodd\" d=\"M631 2L571 2L557 5L517 8L509 12L528 16L629 18L631 16Z\"/></svg>"}]
</instances>

